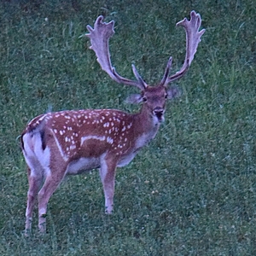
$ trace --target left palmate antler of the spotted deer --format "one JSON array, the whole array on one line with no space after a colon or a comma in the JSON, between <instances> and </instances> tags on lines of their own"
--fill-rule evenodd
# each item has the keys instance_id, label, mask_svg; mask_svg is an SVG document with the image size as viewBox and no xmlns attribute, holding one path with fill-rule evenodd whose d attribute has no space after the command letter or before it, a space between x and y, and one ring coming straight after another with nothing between
<instances>
[{"instance_id":1,"label":"left palmate antler of the spotted deer","mask_svg":"<svg viewBox=\"0 0 256 256\"><path fill-rule=\"evenodd\" d=\"M108 23L102 22L103 16L99 16L96 19L94 28L91 26L86 26L89 34L86 34L90 38L90 49L93 49L96 53L97 61L100 63L102 70L104 70L111 79L119 84L126 84L136 86L140 90L144 90L147 84L141 79L141 77L136 75L137 81L125 79L116 73L115 68L111 64L110 53L108 47L109 38L114 34L113 25L114 21ZM134 68L133 68L134 70Z\"/></svg>"}]
</instances>

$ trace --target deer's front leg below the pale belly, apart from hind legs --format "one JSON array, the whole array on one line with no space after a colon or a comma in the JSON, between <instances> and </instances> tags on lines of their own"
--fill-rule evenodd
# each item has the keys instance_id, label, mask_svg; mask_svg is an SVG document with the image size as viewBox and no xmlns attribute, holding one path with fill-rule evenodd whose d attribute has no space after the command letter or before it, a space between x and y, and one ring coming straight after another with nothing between
<instances>
[{"instance_id":1,"label":"deer's front leg below the pale belly, apart from hind legs","mask_svg":"<svg viewBox=\"0 0 256 256\"><path fill-rule=\"evenodd\" d=\"M100 175L105 195L105 212L111 214L113 211L114 177L117 160L105 157L102 160Z\"/></svg>"}]
</instances>

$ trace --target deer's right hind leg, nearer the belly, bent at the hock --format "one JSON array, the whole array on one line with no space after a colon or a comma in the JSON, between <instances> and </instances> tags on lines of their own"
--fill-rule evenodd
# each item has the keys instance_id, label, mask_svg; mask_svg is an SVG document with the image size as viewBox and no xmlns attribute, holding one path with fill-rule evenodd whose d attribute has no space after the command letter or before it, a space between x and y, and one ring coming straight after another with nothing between
<instances>
[{"instance_id":1,"label":"deer's right hind leg, nearer the belly, bent at the hock","mask_svg":"<svg viewBox=\"0 0 256 256\"><path fill-rule=\"evenodd\" d=\"M51 167L51 172L45 178L44 185L38 193L38 229L41 233L46 231L46 212L49 198L61 183L66 169L66 165L61 166L60 163L55 161L55 166Z\"/></svg>"}]
</instances>

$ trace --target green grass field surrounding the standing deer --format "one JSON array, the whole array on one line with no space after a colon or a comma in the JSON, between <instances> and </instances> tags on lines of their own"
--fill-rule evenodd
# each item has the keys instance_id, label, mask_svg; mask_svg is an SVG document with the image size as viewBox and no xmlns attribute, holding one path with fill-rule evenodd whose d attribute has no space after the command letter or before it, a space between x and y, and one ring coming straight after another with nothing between
<instances>
[{"instance_id":1,"label":"green grass field surrounding the standing deer","mask_svg":"<svg viewBox=\"0 0 256 256\"><path fill-rule=\"evenodd\" d=\"M95 2L95 3L94 3ZM49 109L119 108L137 92L101 71L80 37L98 15L115 20L113 65L148 84L183 64L177 21L192 9L207 29L183 96L157 137L118 170L104 214L98 172L69 177L49 201L48 232L25 226L26 164L19 135ZM245 1L0 2L0 255L256 255L256 5Z\"/></svg>"}]
</instances>

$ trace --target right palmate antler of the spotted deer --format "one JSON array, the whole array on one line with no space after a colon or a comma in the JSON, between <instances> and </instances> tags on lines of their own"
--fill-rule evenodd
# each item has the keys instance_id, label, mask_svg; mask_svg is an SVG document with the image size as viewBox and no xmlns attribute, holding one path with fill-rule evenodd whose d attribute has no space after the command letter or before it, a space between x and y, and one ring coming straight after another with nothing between
<instances>
[{"instance_id":1,"label":"right palmate antler of the spotted deer","mask_svg":"<svg viewBox=\"0 0 256 256\"><path fill-rule=\"evenodd\" d=\"M180 79L189 69L191 62L194 59L194 55L197 49L198 44L201 42L201 36L206 31L202 29L199 31L201 26L201 16L200 14L196 14L195 11L190 13L190 20L184 18L183 20L177 22L176 26L183 26L186 32L186 56L185 61L183 63L183 67L172 75L171 77L167 78L167 74L165 73L164 78L162 79L161 83L169 84L174 80ZM171 67L170 61L168 61L166 71L169 72Z\"/></svg>"}]
</instances>

